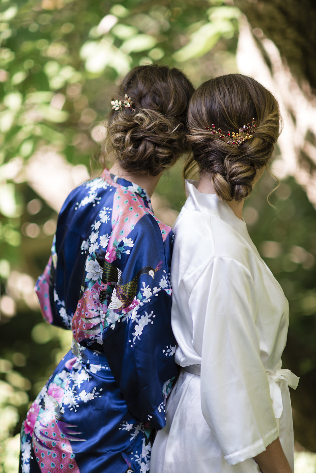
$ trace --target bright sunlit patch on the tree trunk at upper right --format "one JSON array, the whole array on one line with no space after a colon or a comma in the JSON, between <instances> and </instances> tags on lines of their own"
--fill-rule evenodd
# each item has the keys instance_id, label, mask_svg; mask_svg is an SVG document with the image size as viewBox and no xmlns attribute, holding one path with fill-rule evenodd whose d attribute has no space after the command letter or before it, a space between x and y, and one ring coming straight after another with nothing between
<instances>
[{"instance_id":1,"label":"bright sunlit patch on the tree trunk at upper right","mask_svg":"<svg viewBox=\"0 0 316 473\"><path fill-rule=\"evenodd\" d=\"M271 61L271 70L255 44L246 19L241 18L238 69L272 91L278 99L283 119L283 130L278 140L280 155L272 165L272 172L280 179L294 176L316 206L316 97L307 84L304 91L298 86L271 40L261 39L260 43Z\"/></svg>"}]
</instances>

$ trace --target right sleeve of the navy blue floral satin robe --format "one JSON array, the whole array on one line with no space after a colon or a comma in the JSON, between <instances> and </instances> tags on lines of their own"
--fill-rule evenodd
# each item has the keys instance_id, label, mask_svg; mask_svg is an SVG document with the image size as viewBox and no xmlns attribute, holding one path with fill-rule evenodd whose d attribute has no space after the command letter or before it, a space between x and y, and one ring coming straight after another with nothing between
<instances>
[{"instance_id":1,"label":"right sleeve of the navy blue floral satin robe","mask_svg":"<svg viewBox=\"0 0 316 473\"><path fill-rule=\"evenodd\" d=\"M134 244L122 279L124 283L135 280L142 268L147 270L139 277L132 304L108 312L103 349L130 412L162 429L167 395L177 374L169 283L173 235L171 232L163 241L157 222L149 219L143 220L142 227L129 236ZM149 268L155 271L153 277Z\"/></svg>"}]
</instances>

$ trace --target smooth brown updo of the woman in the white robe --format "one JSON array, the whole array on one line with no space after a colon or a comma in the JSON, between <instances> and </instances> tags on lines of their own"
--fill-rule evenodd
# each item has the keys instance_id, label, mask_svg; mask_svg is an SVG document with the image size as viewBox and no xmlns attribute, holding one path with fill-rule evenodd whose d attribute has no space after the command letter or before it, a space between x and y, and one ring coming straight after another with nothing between
<instances>
[{"instance_id":1,"label":"smooth brown updo of the woman in the white robe","mask_svg":"<svg viewBox=\"0 0 316 473\"><path fill-rule=\"evenodd\" d=\"M212 134L211 128L228 131L255 119L255 133L237 146ZM200 173L209 173L214 190L224 201L240 201L251 191L257 171L271 158L280 134L280 112L275 97L255 79L228 74L204 82L193 94L188 111L188 135L193 158L184 168L184 177L196 163Z\"/></svg>"}]
</instances>

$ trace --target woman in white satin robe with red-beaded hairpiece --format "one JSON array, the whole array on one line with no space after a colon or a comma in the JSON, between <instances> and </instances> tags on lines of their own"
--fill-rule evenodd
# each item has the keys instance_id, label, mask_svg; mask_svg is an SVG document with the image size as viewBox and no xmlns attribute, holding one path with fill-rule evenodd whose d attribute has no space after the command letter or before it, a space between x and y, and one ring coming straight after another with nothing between
<instances>
[{"instance_id":1,"label":"woman in white satin robe with red-beaded hairpiece","mask_svg":"<svg viewBox=\"0 0 316 473\"><path fill-rule=\"evenodd\" d=\"M279 128L274 96L240 74L191 99L185 171L197 163L200 179L186 182L171 267L179 376L150 473L294 471L288 302L242 218Z\"/></svg>"}]
</instances>

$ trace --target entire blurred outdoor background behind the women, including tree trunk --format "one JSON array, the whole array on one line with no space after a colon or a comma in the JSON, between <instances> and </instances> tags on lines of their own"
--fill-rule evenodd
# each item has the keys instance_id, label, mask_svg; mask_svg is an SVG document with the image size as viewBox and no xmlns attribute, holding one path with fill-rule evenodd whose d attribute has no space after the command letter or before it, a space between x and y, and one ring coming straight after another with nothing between
<instances>
[{"instance_id":1,"label":"entire blurred outdoor background behind the women, including tree trunk","mask_svg":"<svg viewBox=\"0 0 316 473\"><path fill-rule=\"evenodd\" d=\"M244 218L290 302L283 367L297 473L316 473L316 4L313 0L0 1L0 472L18 471L27 408L71 334L42 320L33 292L61 204L101 171L97 156L115 84L133 66L182 69L198 86L241 72L277 97L283 132ZM183 163L152 203L172 224Z\"/></svg>"}]
</instances>

